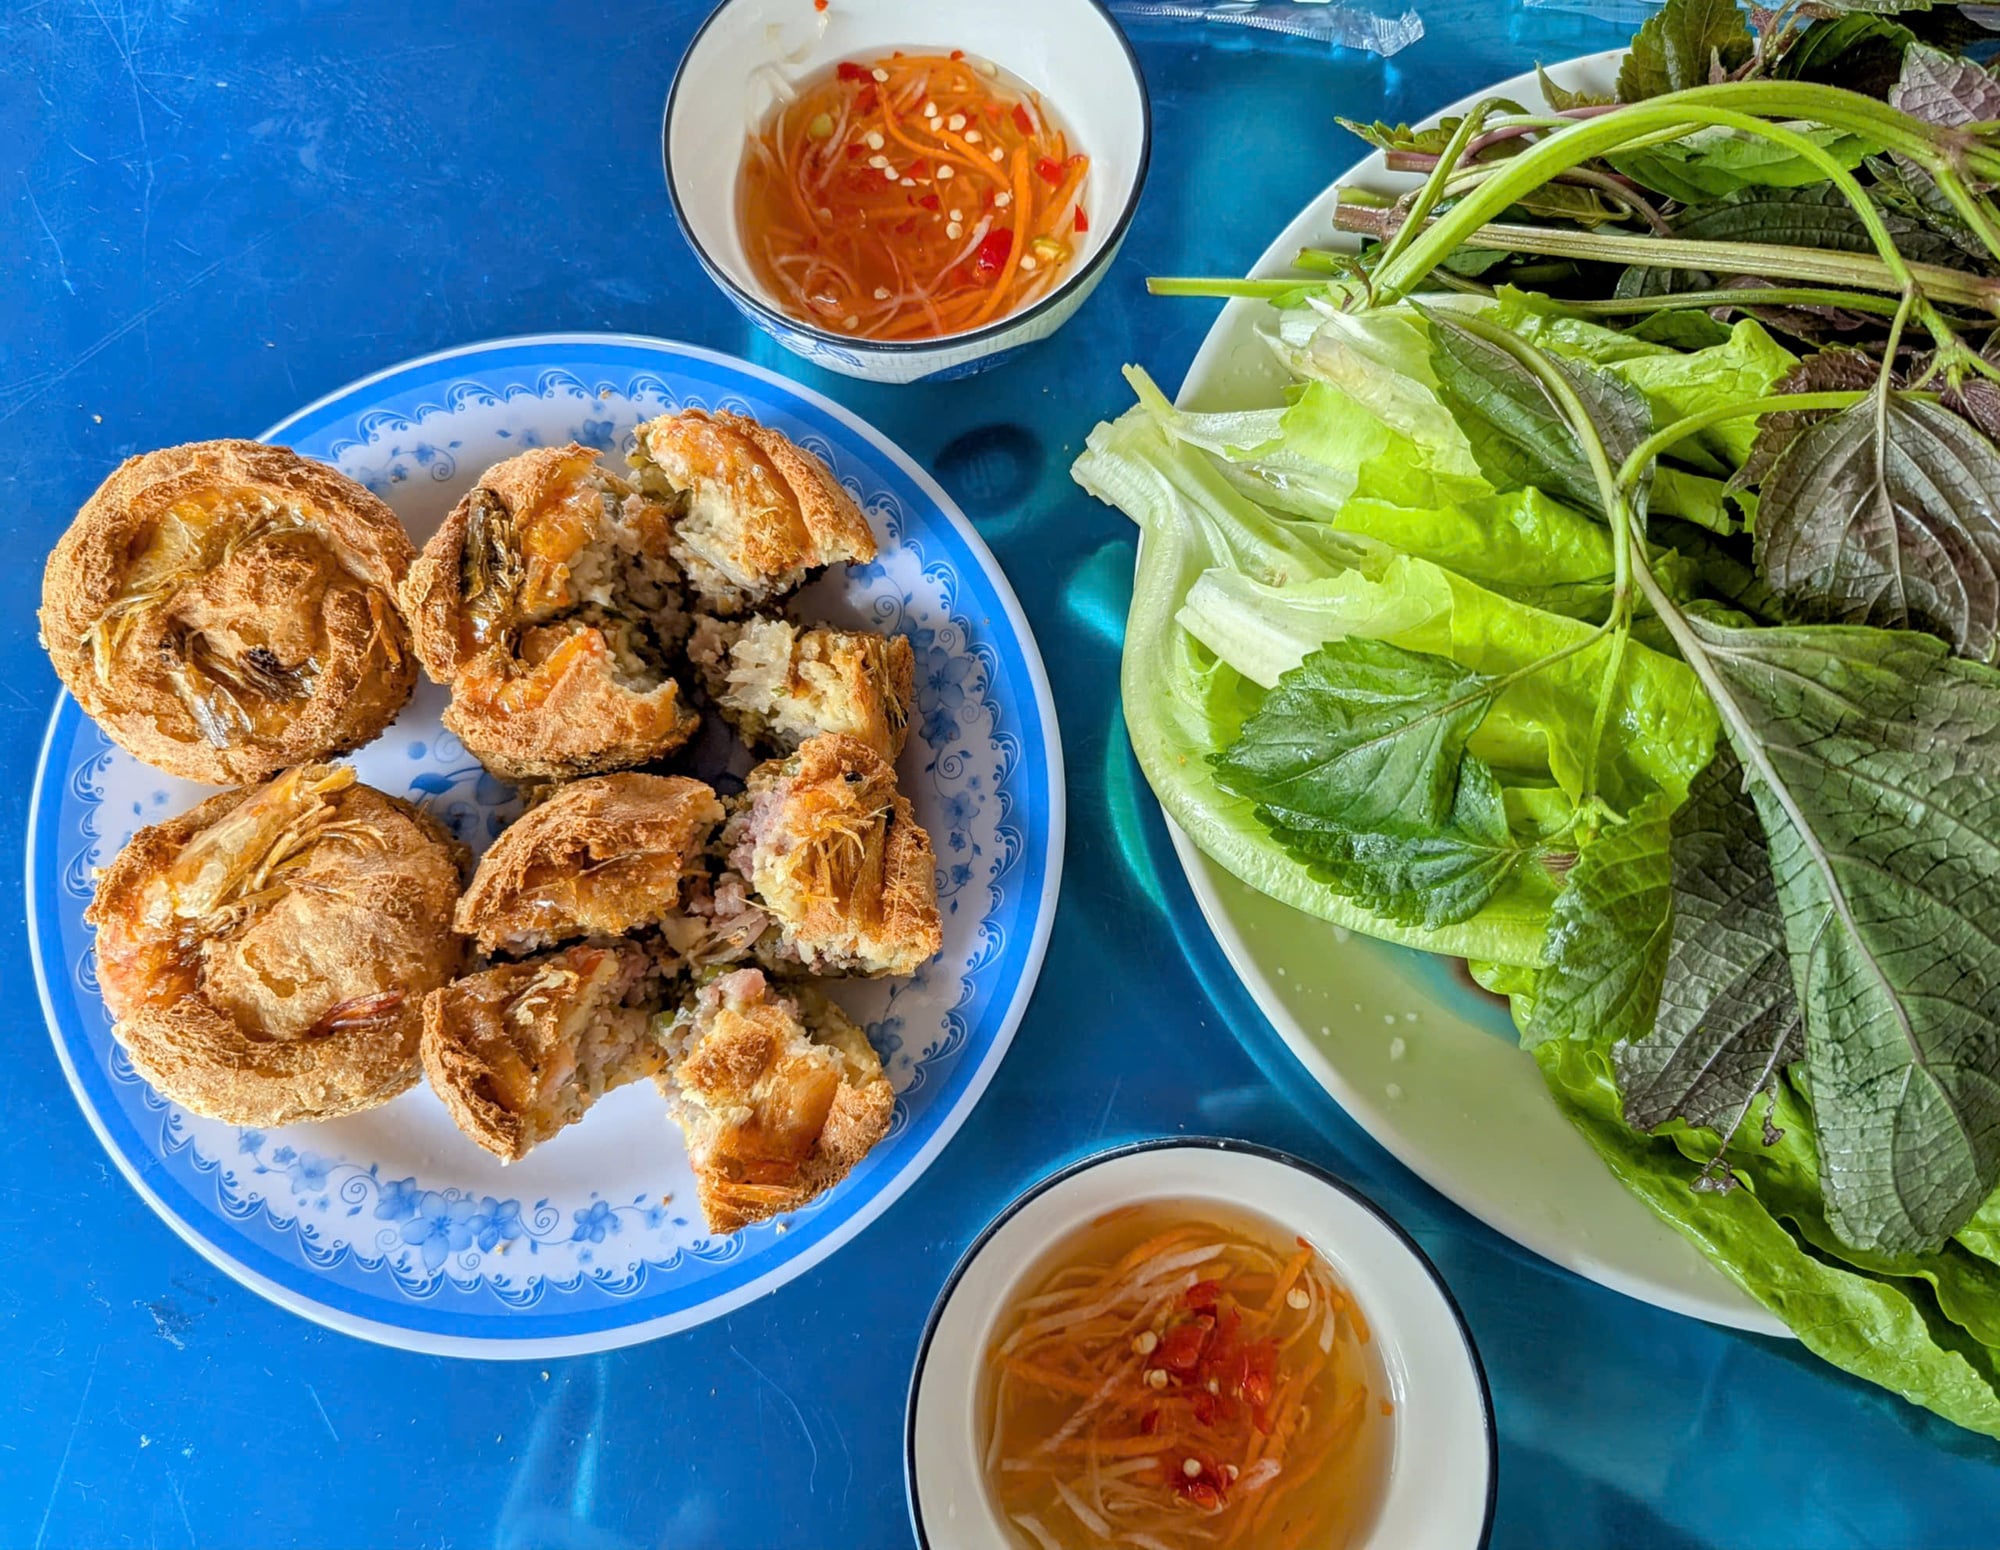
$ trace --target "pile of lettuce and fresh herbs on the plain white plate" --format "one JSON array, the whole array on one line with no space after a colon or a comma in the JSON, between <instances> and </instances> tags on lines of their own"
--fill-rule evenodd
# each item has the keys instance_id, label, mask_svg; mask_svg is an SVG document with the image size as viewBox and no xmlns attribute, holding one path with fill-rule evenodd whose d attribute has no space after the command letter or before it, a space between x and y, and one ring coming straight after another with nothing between
<instances>
[{"instance_id":1,"label":"pile of lettuce and fresh herbs on the plain white plate","mask_svg":"<svg viewBox=\"0 0 2000 1550\"><path fill-rule=\"evenodd\" d=\"M1360 252L1156 284L1268 298L1288 402L1132 372L1076 476L1196 842L1472 960L1660 1216L2000 1436L2000 80L1824 10L1350 126L1424 174Z\"/></svg>"}]
</instances>

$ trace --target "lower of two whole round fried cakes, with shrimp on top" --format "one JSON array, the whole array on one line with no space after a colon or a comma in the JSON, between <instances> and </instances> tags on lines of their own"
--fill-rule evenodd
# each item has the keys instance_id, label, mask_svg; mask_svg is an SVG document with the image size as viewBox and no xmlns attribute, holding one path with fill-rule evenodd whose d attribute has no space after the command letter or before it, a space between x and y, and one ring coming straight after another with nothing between
<instances>
[{"instance_id":1,"label":"lower of two whole round fried cakes, with shrimp on top","mask_svg":"<svg viewBox=\"0 0 2000 1550\"><path fill-rule=\"evenodd\" d=\"M190 842L296 776L350 782L298 808L324 828L248 892L180 914L202 884L176 866ZM380 1104L416 1080L422 1000L460 966L450 910L464 860L428 814L324 766L144 828L84 916L112 1032L160 1094L230 1124Z\"/></svg>"}]
</instances>

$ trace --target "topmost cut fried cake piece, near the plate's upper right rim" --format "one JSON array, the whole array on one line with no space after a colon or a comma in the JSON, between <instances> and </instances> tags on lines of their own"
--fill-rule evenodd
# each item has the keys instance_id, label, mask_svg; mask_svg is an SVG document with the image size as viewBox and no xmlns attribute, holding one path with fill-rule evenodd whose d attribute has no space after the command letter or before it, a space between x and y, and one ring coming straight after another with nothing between
<instances>
[{"instance_id":1,"label":"topmost cut fried cake piece, near the plate's upper right rim","mask_svg":"<svg viewBox=\"0 0 2000 1550\"><path fill-rule=\"evenodd\" d=\"M638 428L642 482L684 500L674 558L716 612L780 598L830 564L876 556L840 480L788 436L742 414L682 410Z\"/></svg>"}]
</instances>

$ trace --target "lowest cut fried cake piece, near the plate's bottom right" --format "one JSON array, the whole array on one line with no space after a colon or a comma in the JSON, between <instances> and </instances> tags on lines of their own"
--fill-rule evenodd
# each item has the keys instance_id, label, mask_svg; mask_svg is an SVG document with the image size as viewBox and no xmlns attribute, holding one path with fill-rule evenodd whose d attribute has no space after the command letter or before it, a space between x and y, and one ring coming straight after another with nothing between
<instances>
[{"instance_id":1,"label":"lowest cut fried cake piece, near the plate's bottom right","mask_svg":"<svg viewBox=\"0 0 2000 1550\"><path fill-rule=\"evenodd\" d=\"M810 986L740 968L672 1022L660 1080L710 1232L798 1210L888 1134L896 1096L868 1034Z\"/></svg>"}]
</instances>

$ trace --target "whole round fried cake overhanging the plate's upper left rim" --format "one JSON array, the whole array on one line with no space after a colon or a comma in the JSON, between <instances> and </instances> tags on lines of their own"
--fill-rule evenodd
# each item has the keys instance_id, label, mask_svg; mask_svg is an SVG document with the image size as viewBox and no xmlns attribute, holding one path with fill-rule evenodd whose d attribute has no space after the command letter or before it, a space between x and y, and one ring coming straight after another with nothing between
<instances>
[{"instance_id":1,"label":"whole round fried cake overhanging the plate's upper left rim","mask_svg":"<svg viewBox=\"0 0 2000 1550\"><path fill-rule=\"evenodd\" d=\"M134 758L254 782L370 742L416 684L396 514L262 442L128 458L42 572L64 688Z\"/></svg>"}]
</instances>

